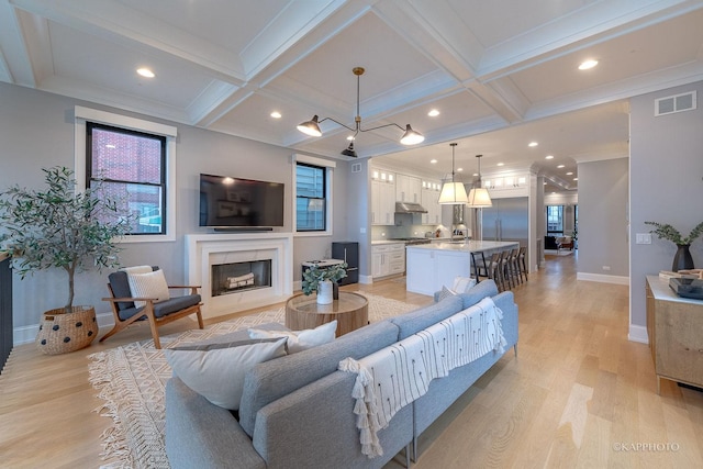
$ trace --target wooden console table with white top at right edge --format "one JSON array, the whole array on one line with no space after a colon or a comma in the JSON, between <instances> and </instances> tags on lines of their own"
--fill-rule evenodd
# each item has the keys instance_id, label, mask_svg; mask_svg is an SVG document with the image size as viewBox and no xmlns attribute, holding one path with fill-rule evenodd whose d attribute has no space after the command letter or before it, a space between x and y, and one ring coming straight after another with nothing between
<instances>
[{"instance_id":1,"label":"wooden console table with white top at right edge","mask_svg":"<svg viewBox=\"0 0 703 469\"><path fill-rule=\"evenodd\" d=\"M647 335L661 378L703 388L703 301L681 298L668 280L647 276Z\"/></svg>"}]
</instances>

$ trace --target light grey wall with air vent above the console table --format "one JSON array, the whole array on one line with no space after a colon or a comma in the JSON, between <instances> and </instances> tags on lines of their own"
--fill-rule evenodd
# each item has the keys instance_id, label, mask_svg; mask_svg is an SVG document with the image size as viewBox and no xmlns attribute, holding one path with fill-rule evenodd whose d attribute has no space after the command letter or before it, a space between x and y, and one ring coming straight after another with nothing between
<instances>
[{"instance_id":1,"label":"light grey wall with air vent above the console table","mask_svg":"<svg viewBox=\"0 0 703 469\"><path fill-rule=\"evenodd\" d=\"M698 109L655 118L655 99L692 90ZM646 221L669 223L683 234L703 221L702 100L703 81L631 100L631 238L651 230ZM631 245L632 339L647 339L645 276L670 270L674 253L673 243L654 235L650 245ZM691 255L703 267L701 238L691 245Z\"/></svg>"}]
</instances>

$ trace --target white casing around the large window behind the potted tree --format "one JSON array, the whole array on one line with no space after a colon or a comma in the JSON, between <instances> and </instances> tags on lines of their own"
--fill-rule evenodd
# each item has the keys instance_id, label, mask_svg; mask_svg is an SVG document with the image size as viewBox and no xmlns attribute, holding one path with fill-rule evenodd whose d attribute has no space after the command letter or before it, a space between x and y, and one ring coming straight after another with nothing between
<instances>
[{"instance_id":1,"label":"white casing around the large window behind the potted tree","mask_svg":"<svg viewBox=\"0 0 703 469\"><path fill-rule=\"evenodd\" d=\"M90 154L86 145L87 127L89 123L103 124L104 126L114 127L120 131L132 131L137 134L142 133L165 138L161 141L165 152L160 164L163 168L161 177L164 178L163 185L160 186L160 197L163 198L160 224L163 225L164 231L161 234L153 231L133 234L122 238L121 243L176 241L176 137L178 136L178 130L174 126L157 122L145 121L142 119L99 111L97 109L83 108L80 105L75 107L75 176L78 190L86 188L86 183L89 178L89 171L87 168ZM100 177L99 174L93 174L93 176ZM144 209L145 205L137 203L135 208ZM146 212L146 210L138 212L145 214L141 220L143 225L148 225L149 223L158 221L159 215L155 213L148 214ZM149 216L154 216L154 219L148 219ZM140 221L137 221L137 223L138 222Z\"/></svg>"}]
</instances>

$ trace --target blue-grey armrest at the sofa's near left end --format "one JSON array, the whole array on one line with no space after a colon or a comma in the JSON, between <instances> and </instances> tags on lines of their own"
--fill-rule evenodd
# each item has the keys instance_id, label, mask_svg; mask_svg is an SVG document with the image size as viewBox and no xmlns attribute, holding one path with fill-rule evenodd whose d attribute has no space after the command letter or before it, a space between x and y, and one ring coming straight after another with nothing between
<instances>
[{"instance_id":1,"label":"blue-grey armrest at the sofa's near left end","mask_svg":"<svg viewBox=\"0 0 703 469\"><path fill-rule=\"evenodd\" d=\"M266 468L232 413L177 377L166 383L166 454L172 469Z\"/></svg>"}]
</instances>

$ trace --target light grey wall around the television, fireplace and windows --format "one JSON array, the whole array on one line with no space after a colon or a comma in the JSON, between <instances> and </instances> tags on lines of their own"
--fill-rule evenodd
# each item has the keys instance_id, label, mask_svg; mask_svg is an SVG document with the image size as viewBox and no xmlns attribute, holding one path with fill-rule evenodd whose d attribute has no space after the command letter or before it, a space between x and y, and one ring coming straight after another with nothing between
<instances>
[{"instance_id":1,"label":"light grey wall around the television, fireplace and windows","mask_svg":"<svg viewBox=\"0 0 703 469\"><path fill-rule=\"evenodd\" d=\"M122 265L152 264L160 266L172 283L185 280L183 235L210 233L198 226L199 174L210 172L286 183L286 217L283 228L292 224L292 163L290 148L277 147L193 126L175 124L149 116L123 112L85 101L59 97L0 82L0 190L13 183L40 189L41 168L74 167L74 108L82 105L107 110L154 122L175 125L177 138L177 228L176 241L164 243L123 243ZM300 263L330 254L331 242L343 241L347 230L348 165L337 161L334 179L334 236L297 237L294 241L293 280L300 279ZM366 206L366 201L355 201ZM0 227L1 230L1 227ZM101 298L108 293L107 273L86 272L77 278L75 304L92 304L98 314L110 311ZM18 332L38 324L41 314L59 308L66 301L66 277L60 270L42 271L25 280L13 279L13 322Z\"/></svg>"}]
</instances>

